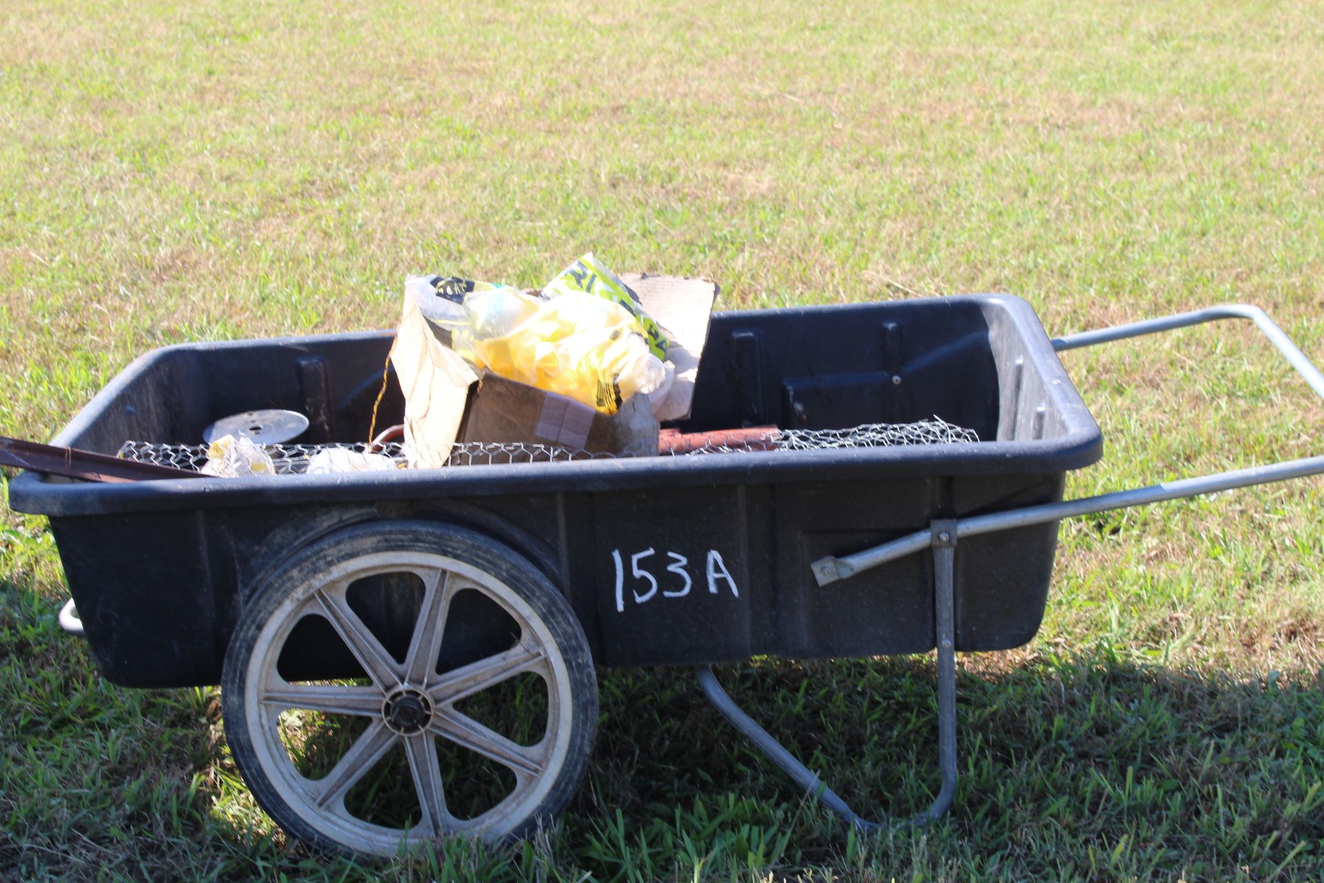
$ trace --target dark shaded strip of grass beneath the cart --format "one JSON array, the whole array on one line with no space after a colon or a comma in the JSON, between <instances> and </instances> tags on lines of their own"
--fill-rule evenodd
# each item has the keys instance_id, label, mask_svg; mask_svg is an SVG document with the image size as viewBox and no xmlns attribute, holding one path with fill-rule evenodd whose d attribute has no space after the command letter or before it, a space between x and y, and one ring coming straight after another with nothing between
<instances>
[{"instance_id":1,"label":"dark shaded strip of grass beneath the cart","mask_svg":"<svg viewBox=\"0 0 1324 883\"><path fill-rule=\"evenodd\" d=\"M380 864L308 855L253 805L217 695L91 671L58 601L0 584L0 878L1319 879L1324 675L1136 666L1106 649L964 657L956 804L850 835L679 669L600 673L602 721L556 831ZM1014 659L1014 662L1013 662ZM932 662L724 666L732 698L867 817L937 788Z\"/></svg>"}]
</instances>

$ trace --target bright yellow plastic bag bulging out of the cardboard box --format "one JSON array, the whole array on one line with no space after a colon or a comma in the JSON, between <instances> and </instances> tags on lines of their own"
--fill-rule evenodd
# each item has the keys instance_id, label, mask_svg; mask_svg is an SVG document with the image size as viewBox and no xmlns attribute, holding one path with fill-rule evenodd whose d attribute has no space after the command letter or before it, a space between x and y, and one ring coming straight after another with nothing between
<instances>
[{"instance_id":1,"label":"bright yellow plastic bag bulging out of the cardboard box","mask_svg":"<svg viewBox=\"0 0 1324 883\"><path fill-rule=\"evenodd\" d=\"M532 303L520 306L536 308L508 334L486 339L475 334L475 353L502 377L569 396L605 414L665 383L666 369L649 352L642 326L621 304L579 291L545 302L526 301ZM466 298L465 308L469 306ZM502 306L496 312L504 318L522 312L511 303ZM493 326L510 327L500 322Z\"/></svg>"}]
</instances>

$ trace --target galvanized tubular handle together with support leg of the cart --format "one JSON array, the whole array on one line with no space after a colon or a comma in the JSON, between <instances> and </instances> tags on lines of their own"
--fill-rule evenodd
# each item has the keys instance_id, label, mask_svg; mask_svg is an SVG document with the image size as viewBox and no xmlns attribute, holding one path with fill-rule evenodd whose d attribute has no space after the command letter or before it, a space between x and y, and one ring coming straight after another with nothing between
<instances>
[{"instance_id":1,"label":"galvanized tubular handle together with support leg of the cart","mask_svg":"<svg viewBox=\"0 0 1324 883\"><path fill-rule=\"evenodd\" d=\"M1274 324L1263 310L1246 304L1225 304L1181 312L1161 319L1133 322L1129 324L1099 328L1082 334L1055 338L1053 348L1058 352L1092 347L1113 340L1125 340L1149 334L1186 328L1205 322L1219 319L1249 319L1264 332L1270 343L1287 361L1298 371L1307 385L1324 398L1324 373L1320 373L1301 349ZM1139 487L1128 491L1100 494L1076 500L1063 500L1061 503L1046 503L1042 506L1029 506L1025 508L1009 510L1005 512L992 512L989 515L976 515L972 518L935 520L928 530L916 531L907 536L882 543L869 549L841 557L824 557L810 564L810 571L820 586L830 585L838 580L845 580L857 573L879 567L899 557L912 555L925 548L933 549L933 613L935 613L935 643L937 647L937 725L939 725L939 765L943 774L943 786L933 804L911 819L902 823L925 825L943 813L952 804L956 790L957 764L956 764L956 630L953 625L953 569L956 545L961 539L1009 531L1033 524L1046 524L1059 522L1064 518L1080 515L1094 515L1111 510L1129 508L1132 506L1149 506L1165 500L1184 496L1198 496L1201 494L1217 494L1251 485L1267 485L1292 478L1324 474L1324 457L1308 457L1268 466L1255 466L1239 469L1198 478L1185 478L1173 482L1162 482L1149 487ZM718 711L731 721L736 729L743 732L755 743L772 763L790 774L810 794L818 797L828 809L841 815L843 819L862 830L878 830L878 822L871 822L858 815L839 796L828 788L818 776L800 763L776 739L768 735L753 719L740 710L735 702L722 690L711 669L699 671L699 684Z\"/></svg>"}]
</instances>

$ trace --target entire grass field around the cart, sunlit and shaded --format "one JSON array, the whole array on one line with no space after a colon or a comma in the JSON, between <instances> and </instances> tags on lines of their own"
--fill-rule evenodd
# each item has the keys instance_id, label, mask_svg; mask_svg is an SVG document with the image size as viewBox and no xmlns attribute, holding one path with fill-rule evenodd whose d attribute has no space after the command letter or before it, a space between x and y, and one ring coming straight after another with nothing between
<instances>
[{"instance_id":1,"label":"entire grass field around the cart, sunlit and shaded","mask_svg":"<svg viewBox=\"0 0 1324 883\"><path fill-rule=\"evenodd\" d=\"M389 326L405 273L594 250L719 308L1009 290L1068 332L1210 302L1324 360L1319 4L7 3L0 432L166 343ZM1087 494L1317 454L1253 330L1066 359ZM960 662L961 785L847 837L685 671L602 673L556 830L383 867L256 808L213 690L102 682L0 510L0 878L1324 878L1324 506L1303 481L1066 524L1039 635ZM925 659L719 674L834 789L936 788Z\"/></svg>"}]
</instances>

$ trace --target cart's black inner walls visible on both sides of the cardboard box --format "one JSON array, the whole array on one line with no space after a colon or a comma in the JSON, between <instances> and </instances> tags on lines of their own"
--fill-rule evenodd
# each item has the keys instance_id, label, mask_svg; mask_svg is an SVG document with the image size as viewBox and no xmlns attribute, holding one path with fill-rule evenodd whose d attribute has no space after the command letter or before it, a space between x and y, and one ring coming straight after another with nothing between
<instances>
[{"instance_id":1,"label":"cart's black inner walls visible on both sides of the cardboard box","mask_svg":"<svg viewBox=\"0 0 1324 883\"><path fill-rule=\"evenodd\" d=\"M939 417L980 441L1053 440L1071 430L1045 372L1027 369L1043 353L1026 346L1025 328L1016 327L1021 316L982 299L940 302L937 315L932 306L914 308L932 303L895 302L884 312L883 304L851 304L715 314L692 414L674 425L849 429ZM119 408L102 410L68 441L102 453L130 440L196 445L220 417L287 408L311 418L302 442L361 442L389 346L388 335L336 335L159 351L127 379ZM387 380L379 429L404 414L393 372Z\"/></svg>"}]
</instances>

